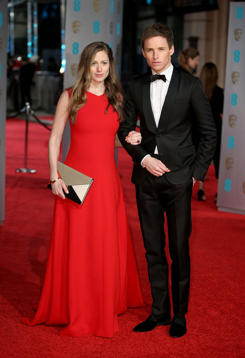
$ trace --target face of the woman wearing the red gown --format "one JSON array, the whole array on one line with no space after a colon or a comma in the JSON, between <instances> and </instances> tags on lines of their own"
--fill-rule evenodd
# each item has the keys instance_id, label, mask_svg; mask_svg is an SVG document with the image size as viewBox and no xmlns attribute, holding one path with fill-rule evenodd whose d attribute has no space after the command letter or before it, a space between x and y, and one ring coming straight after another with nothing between
<instances>
[{"instance_id":1,"label":"face of the woman wearing the red gown","mask_svg":"<svg viewBox=\"0 0 245 358\"><path fill-rule=\"evenodd\" d=\"M108 55L104 51L97 52L90 67L91 83L98 84L103 82L109 74L109 67Z\"/></svg>"}]
</instances>

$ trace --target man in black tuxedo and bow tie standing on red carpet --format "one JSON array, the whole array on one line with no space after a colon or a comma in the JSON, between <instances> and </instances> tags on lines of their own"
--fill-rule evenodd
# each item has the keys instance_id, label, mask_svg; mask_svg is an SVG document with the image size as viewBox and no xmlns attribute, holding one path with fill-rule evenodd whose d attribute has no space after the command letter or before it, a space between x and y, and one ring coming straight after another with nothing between
<instances>
[{"instance_id":1,"label":"man in black tuxedo and bow tie standing on red carpet","mask_svg":"<svg viewBox=\"0 0 245 358\"><path fill-rule=\"evenodd\" d=\"M171 324L171 337L181 337L186 333L190 287L192 187L207 173L215 151L216 128L200 79L181 73L171 64L174 38L168 26L148 26L141 35L141 47L152 75L132 79L124 103L125 120L118 130L119 140L134 162L132 182L153 299L151 315L134 331ZM138 116L142 140L133 146L125 137L135 129ZM201 137L197 151L193 125ZM172 323L164 213L172 260Z\"/></svg>"}]
</instances>

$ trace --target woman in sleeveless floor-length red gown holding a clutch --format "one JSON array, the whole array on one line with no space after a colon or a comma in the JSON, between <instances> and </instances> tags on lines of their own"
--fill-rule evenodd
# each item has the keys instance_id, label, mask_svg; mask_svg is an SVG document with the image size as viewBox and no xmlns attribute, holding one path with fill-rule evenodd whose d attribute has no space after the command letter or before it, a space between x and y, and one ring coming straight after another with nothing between
<instances>
[{"instance_id":1,"label":"woman in sleeveless floor-length red gown holding a clutch","mask_svg":"<svg viewBox=\"0 0 245 358\"><path fill-rule=\"evenodd\" d=\"M103 42L81 54L78 79L58 101L49 141L50 178L56 194L48 262L34 318L22 322L67 325L60 336L113 337L117 315L143 306L114 148L123 120L122 96L112 50ZM82 205L65 199L57 160L69 120L65 164L94 179ZM140 133L126 140L136 145ZM64 200L65 199L65 200Z\"/></svg>"}]
</instances>

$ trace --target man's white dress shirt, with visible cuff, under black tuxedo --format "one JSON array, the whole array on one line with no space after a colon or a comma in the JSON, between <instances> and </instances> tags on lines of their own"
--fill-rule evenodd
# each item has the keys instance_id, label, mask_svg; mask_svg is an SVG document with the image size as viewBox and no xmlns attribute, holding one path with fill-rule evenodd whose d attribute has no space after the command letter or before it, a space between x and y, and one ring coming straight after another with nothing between
<instances>
[{"instance_id":1,"label":"man's white dress shirt, with visible cuff, under black tuxedo","mask_svg":"<svg viewBox=\"0 0 245 358\"><path fill-rule=\"evenodd\" d=\"M160 74L165 75L166 82L162 81L162 79L157 79L156 81L151 82L151 88L150 88L151 107L152 107L152 112L153 112L153 115L155 118L156 127L158 126L158 123L159 123L162 106L164 104L165 97L168 92L169 83L170 83L170 80L171 80L171 77L173 74L173 69L174 69L174 66L170 63L170 66L160 73ZM152 74L156 74L153 70L151 70L151 71L152 71ZM155 148L154 154L158 154L157 146ZM150 154L147 154L141 160L141 165L143 167L145 167L145 166L142 164L142 161L149 155Z\"/></svg>"}]
</instances>

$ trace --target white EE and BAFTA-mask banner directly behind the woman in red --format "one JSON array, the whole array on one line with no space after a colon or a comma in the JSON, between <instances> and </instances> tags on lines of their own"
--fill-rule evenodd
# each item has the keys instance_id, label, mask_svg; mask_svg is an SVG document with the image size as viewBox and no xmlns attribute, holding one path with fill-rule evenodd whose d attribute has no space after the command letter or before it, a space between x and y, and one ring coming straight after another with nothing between
<instances>
[{"instance_id":1,"label":"white EE and BAFTA-mask banner directly behind the woman in red","mask_svg":"<svg viewBox=\"0 0 245 358\"><path fill-rule=\"evenodd\" d=\"M64 88L76 81L76 68L84 47L95 41L104 41L112 48L120 78L122 45L123 0L67 0L65 26ZM64 161L70 145L67 125L62 141Z\"/></svg>"}]
</instances>

